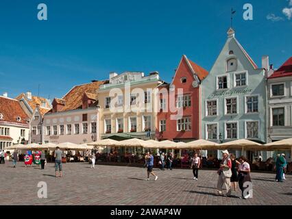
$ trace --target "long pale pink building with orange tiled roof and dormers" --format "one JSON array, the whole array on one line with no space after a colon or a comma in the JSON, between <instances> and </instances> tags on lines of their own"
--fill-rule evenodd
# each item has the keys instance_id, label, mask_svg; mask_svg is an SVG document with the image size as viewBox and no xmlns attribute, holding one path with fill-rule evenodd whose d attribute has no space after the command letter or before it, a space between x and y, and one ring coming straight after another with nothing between
<instances>
[{"instance_id":1,"label":"long pale pink building with orange tiled roof and dormers","mask_svg":"<svg viewBox=\"0 0 292 219\"><path fill-rule=\"evenodd\" d=\"M99 140L97 90L105 81L93 81L72 88L62 99L53 100L53 108L43 119L43 143L84 144Z\"/></svg>"}]
</instances>

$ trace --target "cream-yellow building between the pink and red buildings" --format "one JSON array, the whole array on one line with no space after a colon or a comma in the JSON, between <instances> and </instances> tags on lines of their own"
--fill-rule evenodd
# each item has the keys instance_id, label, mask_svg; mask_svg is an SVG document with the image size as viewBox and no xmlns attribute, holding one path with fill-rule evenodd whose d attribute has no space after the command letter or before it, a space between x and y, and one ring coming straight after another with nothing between
<instances>
[{"instance_id":1,"label":"cream-yellow building between the pink and red buildings","mask_svg":"<svg viewBox=\"0 0 292 219\"><path fill-rule=\"evenodd\" d=\"M110 73L108 83L97 91L101 108L101 139L155 139L157 72Z\"/></svg>"}]
</instances>

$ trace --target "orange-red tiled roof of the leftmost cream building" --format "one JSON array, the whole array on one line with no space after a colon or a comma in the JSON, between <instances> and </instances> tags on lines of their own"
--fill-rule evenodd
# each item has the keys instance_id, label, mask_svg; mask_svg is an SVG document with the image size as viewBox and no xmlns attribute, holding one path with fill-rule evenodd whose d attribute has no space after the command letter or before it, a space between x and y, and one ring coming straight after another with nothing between
<instances>
[{"instance_id":1,"label":"orange-red tiled roof of the leftmost cream building","mask_svg":"<svg viewBox=\"0 0 292 219\"><path fill-rule=\"evenodd\" d=\"M0 114L3 114L3 119L0 122L27 125L27 120L29 120L18 100L3 96L0 96ZM18 117L21 118L21 121L17 121Z\"/></svg>"}]
</instances>

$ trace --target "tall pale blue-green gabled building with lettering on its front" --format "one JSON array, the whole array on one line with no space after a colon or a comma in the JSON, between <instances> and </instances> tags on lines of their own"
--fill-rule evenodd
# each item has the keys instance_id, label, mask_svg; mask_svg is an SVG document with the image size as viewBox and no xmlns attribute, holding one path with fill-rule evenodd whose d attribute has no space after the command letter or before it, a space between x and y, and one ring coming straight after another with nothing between
<instances>
[{"instance_id":1,"label":"tall pale blue-green gabled building with lettering on its front","mask_svg":"<svg viewBox=\"0 0 292 219\"><path fill-rule=\"evenodd\" d=\"M214 142L248 139L265 143L266 82L263 58L258 68L235 38L233 29L210 73L202 81L202 138ZM264 69L265 68L265 69ZM219 157L219 151L212 152ZM236 157L240 151L233 151ZM245 154L251 157L251 152Z\"/></svg>"}]
</instances>

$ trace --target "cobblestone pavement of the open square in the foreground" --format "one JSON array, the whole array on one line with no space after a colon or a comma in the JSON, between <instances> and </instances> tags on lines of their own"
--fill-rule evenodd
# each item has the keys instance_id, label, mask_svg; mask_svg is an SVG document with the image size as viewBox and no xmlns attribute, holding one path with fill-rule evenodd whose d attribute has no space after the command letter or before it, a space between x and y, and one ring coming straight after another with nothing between
<instances>
[{"instance_id":1,"label":"cobblestone pavement of the open square in the foreground","mask_svg":"<svg viewBox=\"0 0 292 219\"><path fill-rule=\"evenodd\" d=\"M53 164L45 170L0 164L0 205L291 205L292 175L277 183L274 174L252 173L254 198L215 196L217 173L200 170L156 170L158 180L145 181L146 169L126 166L63 164L64 177L55 178ZM45 181L47 198L38 198L38 182Z\"/></svg>"}]
</instances>

